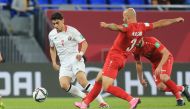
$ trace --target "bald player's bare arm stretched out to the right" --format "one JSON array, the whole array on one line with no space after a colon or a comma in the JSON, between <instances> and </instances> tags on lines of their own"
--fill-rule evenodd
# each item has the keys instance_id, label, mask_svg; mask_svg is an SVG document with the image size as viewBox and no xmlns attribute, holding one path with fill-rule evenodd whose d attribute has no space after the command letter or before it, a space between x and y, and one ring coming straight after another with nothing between
<instances>
[{"instance_id":1,"label":"bald player's bare arm stretched out to the right","mask_svg":"<svg viewBox=\"0 0 190 109\"><path fill-rule=\"evenodd\" d=\"M174 18L174 19L162 19L153 23L153 28L161 28L165 26L169 26L171 24L184 22L182 17Z\"/></svg>"}]
</instances>

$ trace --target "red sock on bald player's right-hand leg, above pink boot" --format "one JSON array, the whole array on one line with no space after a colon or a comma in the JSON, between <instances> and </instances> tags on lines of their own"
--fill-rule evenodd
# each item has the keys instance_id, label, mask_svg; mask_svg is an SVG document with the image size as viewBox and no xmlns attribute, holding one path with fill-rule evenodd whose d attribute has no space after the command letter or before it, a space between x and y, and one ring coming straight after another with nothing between
<instances>
[{"instance_id":1,"label":"red sock on bald player's right-hand leg, above pink boot","mask_svg":"<svg viewBox=\"0 0 190 109\"><path fill-rule=\"evenodd\" d=\"M116 97L127 100L128 102L130 102L133 99L132 96L130 96L127 92L125 92L123 89L117 86L113 86L113 85L109 86L107 89L107 92L111 93L112 95Z\"/></svg>"}]
</instances>

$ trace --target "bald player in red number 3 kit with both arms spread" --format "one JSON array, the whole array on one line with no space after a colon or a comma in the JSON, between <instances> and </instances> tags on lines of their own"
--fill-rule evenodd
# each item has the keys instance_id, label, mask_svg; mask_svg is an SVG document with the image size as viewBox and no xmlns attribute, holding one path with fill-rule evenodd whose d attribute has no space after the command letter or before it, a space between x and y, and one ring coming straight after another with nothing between
<instances>
[{"instance_id":1,"label":"bald player in red number 3 kit with both arms spread","mask_svg":"<svg viewBox=\"0 0 190 109\"><path fill-rule=\"evenodd\" d=\"M104 91L128 101L130 103L130 109L135 109L138 103L140 103L140 99L134 98L120 87L112 85L117 77L118 71L124 67L128 55L132 53L131 51L140 41L145 31L181 22L183 18L165 19L154 23L137 23L135 10L129 8L123 12L123 21L123 25L100 23L101 27L118 31L119 33L106 57L103 71L96 78L93 89L82 102L75 103L76 107L87 109L89 103L96 98L103 87Z\"/></svg>"}]
</instances>

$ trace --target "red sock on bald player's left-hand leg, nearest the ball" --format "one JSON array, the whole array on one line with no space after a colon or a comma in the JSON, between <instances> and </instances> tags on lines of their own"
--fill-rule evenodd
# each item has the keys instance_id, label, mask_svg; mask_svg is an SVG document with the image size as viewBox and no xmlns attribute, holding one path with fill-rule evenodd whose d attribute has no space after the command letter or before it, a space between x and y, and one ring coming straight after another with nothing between
<instances>
[{"instance_id":1,"label":"red sock on bald player's left-hand leg, nearest the ball","mask_svg":"<svg viewBox=\"0 0 190 109\"><path fill-rule=\"evenodd\" d=\"M88 93L88 95L84 98L83 102L85 102L87 105L89 105L100 93L102 89L102 83L95 82L94 87L92 90Z\"/></svg>"}]
</instances>

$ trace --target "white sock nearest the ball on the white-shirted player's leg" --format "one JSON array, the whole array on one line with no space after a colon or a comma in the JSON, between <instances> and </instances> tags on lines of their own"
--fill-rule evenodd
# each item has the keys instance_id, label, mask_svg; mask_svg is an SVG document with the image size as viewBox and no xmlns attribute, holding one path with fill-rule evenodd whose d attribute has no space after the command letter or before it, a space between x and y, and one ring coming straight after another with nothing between
<instances>
[{"instance_id":1,"label":"white sock nearest the ball on the white-shirted player's leg","mask_svg":"<svg viewBox=\"0 0 190 109\"><path fill-rule=\"evenodd\" d=\"M71 85L70 88L67 90L67 92L71 93L71 95L73 96L77 96L81 98L86 97L86 94L74 85Z\"/></svg>"}]
</instances>

